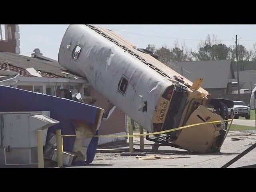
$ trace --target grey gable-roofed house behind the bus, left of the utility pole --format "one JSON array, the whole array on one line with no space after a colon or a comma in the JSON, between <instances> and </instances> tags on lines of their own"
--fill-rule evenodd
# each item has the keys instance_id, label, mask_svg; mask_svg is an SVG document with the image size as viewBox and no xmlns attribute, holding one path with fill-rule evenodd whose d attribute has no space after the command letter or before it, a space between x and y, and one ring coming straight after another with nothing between
<instances>
[{"instance_id":1,"label":"grey gable-roofed house behind the bus, left of the utility pole","mask_svg":"<svg viewBox=\"0 0 256 192\"><path fill-rule=\"evenodd\" d=\"M237 90L237 81L231 60L175 62L174 70L190 81L204 78L202 88L214 97L232 94Z\"/></svg>"}]
</instances>

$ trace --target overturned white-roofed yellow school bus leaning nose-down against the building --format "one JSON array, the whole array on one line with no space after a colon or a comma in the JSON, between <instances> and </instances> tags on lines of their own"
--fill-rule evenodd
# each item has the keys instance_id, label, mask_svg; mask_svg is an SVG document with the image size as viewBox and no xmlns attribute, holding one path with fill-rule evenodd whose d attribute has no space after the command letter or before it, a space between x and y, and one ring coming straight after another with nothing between
<instances>
[{"instance_id":1,"label":"overturned white-roofed yellow school bus leaning nose-down against the building","mask_svg":"<svg viewBox=\"0 0 256 192\"><path fill-rule=\"evenodd\" d=\"M136 48L111 30L92 25L68 27L58 61L86 78L102 96L150 133L221 121L154 135L154 141L176 148L200 153L220 151L227 124L220 116L218 99L212 100L216 111L205 107L210 100L209 93L201 88L202 78L192 83L154 54Z\"/></svg>"}]
</instances>

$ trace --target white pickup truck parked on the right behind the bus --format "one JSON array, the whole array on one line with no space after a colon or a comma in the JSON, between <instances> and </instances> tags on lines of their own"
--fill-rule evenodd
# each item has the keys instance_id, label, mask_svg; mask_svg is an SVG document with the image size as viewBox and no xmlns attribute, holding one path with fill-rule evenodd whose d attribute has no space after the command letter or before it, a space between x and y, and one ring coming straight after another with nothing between
<instances>
[{"instance_id":1,"label":"white pickup truck parked on the right behind the bus","mask_svg":"<svg viewBox=\"0 0 256 192\"><path fill-rule=\"evenodd\" d=\"M235 115L235 119L238 119L239 117L245 117L246 119L250 119L250 111L251 108L249 106L246 106L243 101L234 101L234 106L232 108L228 108L228 114L231 118L233 115Z\"/></svg>"}]
</instances>

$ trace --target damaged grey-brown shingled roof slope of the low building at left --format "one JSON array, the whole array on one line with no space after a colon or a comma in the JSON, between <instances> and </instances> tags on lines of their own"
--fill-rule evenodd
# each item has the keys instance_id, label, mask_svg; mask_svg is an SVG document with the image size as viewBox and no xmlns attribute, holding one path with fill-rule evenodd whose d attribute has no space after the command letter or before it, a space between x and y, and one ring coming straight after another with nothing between
<instances>
[{"instance_id":1,"label":"damaged grey-brown shingled roof slope of the low building at left","mask_svg":"<svg viewBox=\"0 0 256 192\"><path fill-rule=\"evenodd\" d=\"M81 76L67 71L58 62L41 60L9 52L0 52L0 69L7 70L8 66L11 71L19 72L20 76L24 77L34 77L26 71L26 68L34 68L36 71L40 71L39 74L42 77L83 79Z\"/></svg>"}]
</instances>

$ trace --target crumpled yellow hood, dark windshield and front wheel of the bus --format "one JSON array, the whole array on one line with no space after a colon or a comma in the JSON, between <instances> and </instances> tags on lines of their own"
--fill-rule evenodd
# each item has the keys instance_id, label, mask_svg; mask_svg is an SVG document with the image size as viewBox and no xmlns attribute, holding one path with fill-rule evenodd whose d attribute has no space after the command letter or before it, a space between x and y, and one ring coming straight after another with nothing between
<instances>
[{"instance_id":1,"label":"crumpled yellow hood, dark windshield and front wheel of the bus","mask_svg":"<svg viewBox=\"0 0 256 192\"><path fill-rule=\"evenodd\" d=\"M223 110L227 109L228 106L232 106L232 101L214 98L211 100L210 105L215 110L210 110L203 106L202 103L194 99L188 100L188 98L188 90L182 89L182 86L175 86L162 131L172 130L185 125L228 120L228 115L223 113ZM226 106L226 108L220 108L220 103ZM218 112L216 109L220 111ZM204 124L203 126L191 126L184 130L175 129L174 131L154 135L153 137L147 135L146 140L155 142L152 147L153 151L157 151L160 146L159 144L163 144L164 146L194 152L219 152L224 142L227 126L228 123L223 121L215 124ZM211 134L208 134L209 132ZM149 132L147 131L147 133ZM202 139L202 135L204 135L205 139Z\"/></svg>"}]
</instances>

